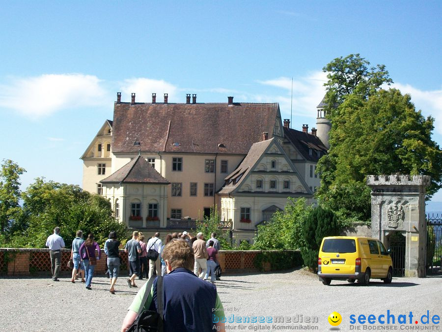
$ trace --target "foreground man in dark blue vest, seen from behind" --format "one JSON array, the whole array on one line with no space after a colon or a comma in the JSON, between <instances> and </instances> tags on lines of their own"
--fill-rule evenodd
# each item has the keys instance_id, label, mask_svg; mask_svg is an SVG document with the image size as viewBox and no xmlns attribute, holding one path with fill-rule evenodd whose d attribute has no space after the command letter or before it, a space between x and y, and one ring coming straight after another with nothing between
<instances>
[{"instance_id":1,"label":"foreground man in dark blue vest, seen from behind","mask_svg":"<svg viewBox=\"0 0 442 332\"><path fill-rule=\"evenodd\" d=\"M194 255L184 240L170 241L163 249L167 274L163 283L164 331L208 332L224 331L224 309L217 288L193 274ZM142 310L156 311L157 279L151 289L148 282L139 290L126 314L121 332L125 332ZM142 305L145 292L150 294Z\"/></svg>"}]
</instances>

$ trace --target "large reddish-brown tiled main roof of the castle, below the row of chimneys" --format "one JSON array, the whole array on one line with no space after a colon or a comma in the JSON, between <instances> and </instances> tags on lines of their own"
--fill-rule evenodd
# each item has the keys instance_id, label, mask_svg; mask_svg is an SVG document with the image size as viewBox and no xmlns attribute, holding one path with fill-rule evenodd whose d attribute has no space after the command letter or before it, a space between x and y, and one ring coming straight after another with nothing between
<instances>
[{"instance_id":1,"label":"large reddish-brown tiled main roof of the castle, below the row of chimneys","mask_svg":"<svg viewBox=\"0 0 442 332\"><path fill-rule=\"evenodd\" d=\"M272 138L278 112L277 103L115 103L112 152L138 152L137 141L146 152L247 154L263 132Z\"/></svg>"}]
</instances>

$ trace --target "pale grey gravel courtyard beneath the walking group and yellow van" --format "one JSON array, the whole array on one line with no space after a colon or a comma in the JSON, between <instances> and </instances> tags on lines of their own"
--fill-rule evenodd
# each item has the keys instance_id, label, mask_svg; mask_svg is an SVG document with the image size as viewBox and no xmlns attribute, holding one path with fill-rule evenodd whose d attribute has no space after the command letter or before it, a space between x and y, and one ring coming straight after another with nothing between
<instances>
[{"instance_id":1,"label":"pale grey gravel courtyard beneath the walking group and yellow van","mask_svg":"<svg viewBox=\"0 0 442 332\"><path fill-rule=\"evenodd\" d=\"M72 284L68 277L60 278L59 282L46 277L2 278L0 330L119 331L137 292L136 288L127 286L126 279L118 279L116 294L111 295L109 281L103 276L94 277L91 291L82 283ZM144 282L137 280L138 286ZM434 314L442 317L442 277L394 278L390 285L373 280L368 287L332 281L331 286L324 286L315 275L295 270L223 275L217 288L228 318L273 317L273 322L266 324L227 323L227 331L293 331L300 326L304 331L306 327L316 331L337 330L327 322L333 311L342 315L340 331L351 331L350 314L378 316L387 314L389 309L396 319L410 311L419 319L429 310L430 317ZM275 316L301 320L301 315L302 323L275 323ZM305 323L305 317L312 316L318 317L318 323ZM423 327L420 322L417 326ZM442 331L442 323L436 327Z\"/></svg>"}]
</instances>

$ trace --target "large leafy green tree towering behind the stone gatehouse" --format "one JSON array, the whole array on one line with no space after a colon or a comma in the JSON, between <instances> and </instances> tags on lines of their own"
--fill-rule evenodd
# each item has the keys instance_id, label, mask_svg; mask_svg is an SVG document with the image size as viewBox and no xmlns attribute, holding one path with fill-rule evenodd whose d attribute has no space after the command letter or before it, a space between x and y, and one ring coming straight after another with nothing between
<instances>
[{"instance_id":1,"label":"large leafy green tree towering behind the stone gatehouse","mask_svg":"<svg viewBox=\"0 0 442 332\"><path fill-rule=\"evenodd\" d=\"M391 82L385 66L368 69L368 64L350 55L324 67L331 71L326 84L331 131L329 153L318 163L318 197L340 221L370 219L368 174L430 175L428 197L442 184L442 152L431 139L434 119L416 111L410 95L382 89Z\"/></svg>"}]
</instances>

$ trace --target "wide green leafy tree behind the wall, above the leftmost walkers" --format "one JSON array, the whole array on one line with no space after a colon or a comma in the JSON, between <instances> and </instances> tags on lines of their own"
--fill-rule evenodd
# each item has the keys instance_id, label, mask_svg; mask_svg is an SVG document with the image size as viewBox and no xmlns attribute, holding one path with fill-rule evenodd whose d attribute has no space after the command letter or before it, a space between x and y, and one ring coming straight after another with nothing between
<instances>
[{"instance_id":1,"label":"wide green leafy tree behind the wall, above the leftmost walkers","mask_svg":"<svg viewBox=\"0 0 442 332\"><path fill-rule=\"evenodd\" d=\"M23 195L23 208L29 226L22 242L28 247L44 247L46 238L55 226L70 247L75 233L81 229L87 236L93 233L100 245L110 231L116 231L123 239L127 227L112 216L111 204L104 197L83 191L78 185L44 181L37 178Z\"/></svg>"}]
</instances>

